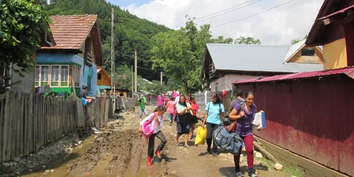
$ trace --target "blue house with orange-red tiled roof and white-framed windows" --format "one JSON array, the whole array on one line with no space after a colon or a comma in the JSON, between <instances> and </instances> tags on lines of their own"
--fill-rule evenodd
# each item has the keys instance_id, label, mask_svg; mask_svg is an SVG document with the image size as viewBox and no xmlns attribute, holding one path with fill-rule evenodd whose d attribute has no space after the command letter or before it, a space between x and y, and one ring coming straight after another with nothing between
<instances>
[{"instance_id":1,"label":"blue house with orange-red tiled roof and white-framed windows","mask_svg":"<svg viewBox=\"0 0 354 177\"><path fill-rule=\"evenodd\" d=\"M97 15L50 16L56 45L37 52L35 86L50 86L53 92L79 93L88 87L96 96L97 66L102 64L101 35Z\"/></svg>"}]
</instances>

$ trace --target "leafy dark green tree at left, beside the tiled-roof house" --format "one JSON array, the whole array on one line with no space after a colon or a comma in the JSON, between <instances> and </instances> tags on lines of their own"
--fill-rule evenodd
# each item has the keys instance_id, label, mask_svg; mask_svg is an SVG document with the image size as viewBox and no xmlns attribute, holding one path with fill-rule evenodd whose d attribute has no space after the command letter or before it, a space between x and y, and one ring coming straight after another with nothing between
<instances>
[{"instance_id":1,"label":"leafy dark green tree at left, beside the tiled-roof house","mask_svg":"<svg viewBox=\"0 0 354 177\"><path fill-rule=\"evenodd\" d=\"M28 0L4 0L0 6L0 93L10 79L4 69L16 64L19 69L14 72L23 76L33 71L35 59L33 55L40 47L41 34L50 31L50 19L38 4ZM4 78L1 78L4 76Z\"/></svg>"}]
</instances>

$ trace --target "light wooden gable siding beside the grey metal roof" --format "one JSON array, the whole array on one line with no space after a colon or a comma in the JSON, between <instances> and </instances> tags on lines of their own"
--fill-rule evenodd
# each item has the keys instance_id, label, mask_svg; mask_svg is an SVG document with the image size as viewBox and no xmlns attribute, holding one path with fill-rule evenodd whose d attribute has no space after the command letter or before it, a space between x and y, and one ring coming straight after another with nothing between
<instances>
[{"instance_id":1,"label":"light wooden gable siding beside the grey metal roof","mask_svg":"<svg viewBox=\"0 0 354 177\"><path fill-rule=\"evenodd\" d=\"M307 47L309 49L315 50L315 55L313 57L310 56L302 56L301 50L297 52L288 62L294 63L308 63L308 64L323 64L323 55L322 52L317 49L317 47Z\"/></svg>"}]
</instances>

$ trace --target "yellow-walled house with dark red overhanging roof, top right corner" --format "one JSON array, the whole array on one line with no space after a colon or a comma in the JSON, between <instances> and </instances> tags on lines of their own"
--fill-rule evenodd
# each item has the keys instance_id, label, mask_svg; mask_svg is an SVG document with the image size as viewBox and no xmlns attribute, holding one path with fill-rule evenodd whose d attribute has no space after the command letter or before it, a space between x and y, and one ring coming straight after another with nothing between
<instances>
[{"instance_id":1,"label":"yellow-walled house with dark red overhanging roof, top right corner","mask_svg":"<svg viewBox=\"0 0 354 177\"><path fill-rule=\"evenodd\" d=\"M306 40L324 46L324 69L354 65L354 1L325 0Z\"/></svg>"}]
</instances>

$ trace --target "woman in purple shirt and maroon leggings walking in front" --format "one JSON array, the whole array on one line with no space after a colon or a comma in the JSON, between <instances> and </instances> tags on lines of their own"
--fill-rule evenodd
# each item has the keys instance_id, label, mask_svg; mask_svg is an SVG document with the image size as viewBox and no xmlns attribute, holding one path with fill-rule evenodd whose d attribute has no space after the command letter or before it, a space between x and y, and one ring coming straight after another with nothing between
<instances>
[{"instance_id":1,"label":"woman in purple shirt and maroon leggings walking in front","mask_svg":"<svg viewBox=\"0 0 354 177\"><path fill-rule=\"evenodd\" d=\"M254 102L254 93L249 91L245 94L246 103L237 103L229 114L230 120L237 120L236 133L244 140L247 154L247 166L249 167L249 176L257 177L253 171L253 134L251 122L257 112ZM240 151L241 152L241 147ZM244 176L240 169L240 154L234 155L236 176Z\"/></svg>"}]
</instances>

